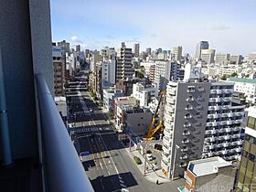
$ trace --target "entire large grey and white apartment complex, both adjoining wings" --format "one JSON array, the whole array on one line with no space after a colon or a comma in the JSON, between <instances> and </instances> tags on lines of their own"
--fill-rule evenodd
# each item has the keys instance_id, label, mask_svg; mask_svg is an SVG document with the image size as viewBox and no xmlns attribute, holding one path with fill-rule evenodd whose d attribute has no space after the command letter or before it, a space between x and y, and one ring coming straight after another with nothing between
<instances>
[{"instance_id":1,"label":"entire large grey and white apartment complex, both adjoining wings","mask_svg":"<svg viewBox=\"0 0 256 192\"><path fill-rule=\"evenodd\" d=\"M229 82L168 83L161 164L166 176L171 176L171 170L182 175L189 160L201 157L239 158L244 106L231 103L232 92Z\"/></svg>"}]
</instances>

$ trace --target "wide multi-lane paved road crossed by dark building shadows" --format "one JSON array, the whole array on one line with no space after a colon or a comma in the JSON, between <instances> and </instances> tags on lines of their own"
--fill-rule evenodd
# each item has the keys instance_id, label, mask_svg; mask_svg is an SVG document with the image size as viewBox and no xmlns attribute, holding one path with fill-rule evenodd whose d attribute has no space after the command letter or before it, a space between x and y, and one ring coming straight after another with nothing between
<instances>
[{"instance_id":1,"label":"wide multi-lane paved road crossed by dark building shadows","mask_svg":"<svg viewBox=\"0 0 256 192\"><path fill-rule=\"evenodd\" d=\"M91 101L88 92L82 95L71 98L72 113L76 112L76 117L69 123L75 122L73 130L76 130L80 151L90 153L81 157L81 161L95 191L177 191L174 183L156 185L144 178L104 113Z\"/></svg>"}]
</instances>

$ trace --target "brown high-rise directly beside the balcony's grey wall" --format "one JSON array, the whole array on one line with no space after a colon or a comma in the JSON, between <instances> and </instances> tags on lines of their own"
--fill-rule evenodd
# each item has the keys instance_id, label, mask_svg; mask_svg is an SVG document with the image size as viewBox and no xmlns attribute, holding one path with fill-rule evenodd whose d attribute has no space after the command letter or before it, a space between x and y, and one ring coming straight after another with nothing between
<instances>
[{"instance_id":1,"label":"brown high-rise directly beside the balcony's grey wall","mask_svg":"<svg viewBox=\"0 0 256 192\"><path fill-rule=\"evenodd\" d=\"M65 96L65 63L59 47L52 47L52 60L54 69L54 92L55 96Z\"/></svg>"}]
</instances>

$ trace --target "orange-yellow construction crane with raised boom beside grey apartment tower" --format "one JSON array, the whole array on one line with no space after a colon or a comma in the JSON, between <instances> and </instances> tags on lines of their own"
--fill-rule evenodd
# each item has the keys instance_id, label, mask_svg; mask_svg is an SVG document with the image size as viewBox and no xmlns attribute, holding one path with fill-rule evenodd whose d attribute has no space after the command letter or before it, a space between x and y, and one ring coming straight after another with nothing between
<instances>
[{"instance_id":1,"label":"orange-yellow construction crane with raised boom beside grey apartment tower","mask_svg":"<svg viewBox=\"0 0 256 192\"><path fill-rule=\"evenodd\" d=\"M148 133L147 135L144 137L144 140L145 141L151 141L151 140L154 140L155 137L155 133L158 131L158 130L163 130L164 129L164 125L163 125L163 121L160 120L159 124L155 127L155 118L156 118L156 115L157 115L157 112L159 110L159 107L160 107L160 104L161 104L161 101L163 100L164 98L164 95L165 95L165 92L166 91L161 91L160 92L160 98L159 98L159 101L158 101L158 104L157 104L157 107L155 109L155 114L152 118L152 122L150 124L150 127L149 127L149 130L148 130ZM163 112L161 113L161 115L163 115ZM162 118L161 118L162 119ZM155 127L155 128L154 128Z\"/></svg>"}]
</instances>

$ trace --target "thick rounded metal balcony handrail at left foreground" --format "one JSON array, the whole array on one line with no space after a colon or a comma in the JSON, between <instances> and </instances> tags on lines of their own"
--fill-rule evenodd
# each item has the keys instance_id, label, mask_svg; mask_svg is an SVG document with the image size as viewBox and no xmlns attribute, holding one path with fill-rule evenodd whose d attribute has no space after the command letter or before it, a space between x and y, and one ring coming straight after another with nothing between
<instances>
[{"instance_id":1,"label":"thick rounded metal balcony handrail at left foreground","mask_svg":"<svg viewBox=\"0 0 256 192\"><path fill-rule=\"evenodd\" d=\"M36 75L37 99L49 192L94 191L42 74Z\"/></svg>"}]
</instances>

